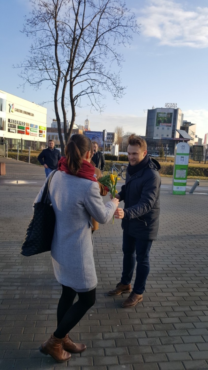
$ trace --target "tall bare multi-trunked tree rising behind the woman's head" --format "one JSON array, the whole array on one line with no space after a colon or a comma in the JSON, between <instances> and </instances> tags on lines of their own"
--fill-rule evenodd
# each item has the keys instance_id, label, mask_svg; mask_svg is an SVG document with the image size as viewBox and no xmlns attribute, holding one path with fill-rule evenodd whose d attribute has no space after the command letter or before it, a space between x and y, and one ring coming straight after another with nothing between
<instances>
[{"instance_id":1,"label":"tall bare multi-trunked tree rising behind the woman's head","mask_svg":"<svg viewBox=\"0 0 208 370\"><path fill-rule=\"evenodd\" d=\"M60 107L64 119L65 141L71 135L76 107L83 98L91 109L103 111L102 100L110 92L117 101L123 96L120 68L121 44L130 44L133 33L139 34L134 13L125 0L30 0L32 11L25 19L23 33L33 38L30 56L18 65L24 83L39 89L43 83L52 89L61 152ZM87 102L86 102L87 101ZM67 131L67 108L71 124Z\"/></svg>"}]
</instances>

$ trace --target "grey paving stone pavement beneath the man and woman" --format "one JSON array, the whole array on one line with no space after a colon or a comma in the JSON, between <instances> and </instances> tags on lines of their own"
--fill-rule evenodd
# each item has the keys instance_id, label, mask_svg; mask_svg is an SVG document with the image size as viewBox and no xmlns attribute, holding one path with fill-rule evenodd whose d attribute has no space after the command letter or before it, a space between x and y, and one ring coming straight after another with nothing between
<instances>
[{"instance_id":1,"label":"grey paving stone pavement beneath the man and woman","mask_svg":"<svg viewBox=\"0 0 208 370\"><path fill-rule=\"evenodd\" d=\"M208 369L207 195L161 192L146 292L133 308L121 307L126 295L107 295L122 271L120 221L93 233L96 303L71 332L88 349L63 364L38 351L55 330L61 292L50 253L19 253L37 192L33 184L1 185L0 369Z\"/></svg>"}]
</instances>

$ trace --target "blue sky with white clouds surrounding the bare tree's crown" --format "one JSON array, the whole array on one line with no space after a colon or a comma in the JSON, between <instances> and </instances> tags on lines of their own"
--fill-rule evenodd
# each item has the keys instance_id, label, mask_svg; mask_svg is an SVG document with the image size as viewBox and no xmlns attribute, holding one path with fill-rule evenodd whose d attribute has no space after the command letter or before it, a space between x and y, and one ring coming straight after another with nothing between
<instances>
[{"instance_id":1,"label":"blue sky with white clouds surrounding the bare tree's crown","mask_svg":"<svg viewBox=\"0 0 208 370\"><path fill-rule=\"evenodd\" d=\"M113 131L122 125L124 131L144 135L144 110L164 107L176 102L184 119L197 124L196 134L204 138L208 132L208 1L207 0L127 0L127 6L141 24L140 36L134 36L130 48L123 48L125 62L121 77L127 86L125 96L117 104L110 95L105 100L102 115L79 109L76 124L86 116L93 131ZM39 104L51 100L51 92L43 85L35 91L27 86L23 92L18 70L12 68L28 55L30 39L20 32L24 15L28 15L28 0L1 3L0 23L0 90ZM53 104L47 122L55 118ZM68 114L70 119L70 112Z\"/></svg>"}]
</instances>

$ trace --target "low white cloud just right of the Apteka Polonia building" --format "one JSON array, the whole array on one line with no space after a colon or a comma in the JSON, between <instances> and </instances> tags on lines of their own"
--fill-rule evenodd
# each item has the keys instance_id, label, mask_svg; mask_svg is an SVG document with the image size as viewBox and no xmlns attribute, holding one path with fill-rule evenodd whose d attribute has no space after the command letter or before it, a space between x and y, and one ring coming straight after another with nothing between
<instances>
[{"instance_id":1,"label":"low white cloud just right of the Apteka Polonia building","mask_svg":"<svg viewBox=\"0 0 208 370\"><path fill-rule=\"evenodd\" d=\"M196 134L204 140L204 135L208 132L208 111L205 109L183 111L184 120L196 124Z\"/></svg>"}]
</instances>

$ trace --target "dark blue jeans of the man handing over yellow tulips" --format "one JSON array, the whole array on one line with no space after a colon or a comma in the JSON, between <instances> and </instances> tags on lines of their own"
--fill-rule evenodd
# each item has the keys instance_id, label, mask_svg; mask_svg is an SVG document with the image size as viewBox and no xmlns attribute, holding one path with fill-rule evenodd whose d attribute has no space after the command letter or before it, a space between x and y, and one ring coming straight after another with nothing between
<instances>
[{"instance_id":1,"label":"dark blue jeans of the man handing over yellow tulips","mask_svg":"<svg viewBox=\"0 0 208 370\"><path fill-rule=\"evenodd\" d=\"M136 266L136 279L133 292L144 292L147 276L150 272L150 248L152 240L140 240L123 232L123 272L121 283L128 285L132 281L134 266Z\"/></svg>"}]
</instances>

